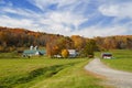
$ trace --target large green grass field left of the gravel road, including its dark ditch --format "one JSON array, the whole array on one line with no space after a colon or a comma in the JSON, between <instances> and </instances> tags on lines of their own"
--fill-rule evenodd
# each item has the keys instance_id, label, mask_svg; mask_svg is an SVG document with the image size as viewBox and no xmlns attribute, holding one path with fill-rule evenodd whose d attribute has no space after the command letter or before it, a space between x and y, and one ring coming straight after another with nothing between
<instances>
[{"instance_id":1,"label":"large green grass field left of the gravel road, including its dark ditch","mask_svg":"<svg viewBox=\"0 0 132 88\"><path fill-rule=\"evenodd\" d=\"M88 58L1 58L0 88L105 88L88 74Z\"/></svg>"}]
</instances>

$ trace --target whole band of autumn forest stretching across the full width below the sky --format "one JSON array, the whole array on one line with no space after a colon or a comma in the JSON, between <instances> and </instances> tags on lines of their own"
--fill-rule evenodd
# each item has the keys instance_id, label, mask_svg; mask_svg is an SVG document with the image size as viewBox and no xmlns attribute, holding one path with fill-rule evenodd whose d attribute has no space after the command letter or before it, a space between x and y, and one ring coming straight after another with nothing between
<instances>
[{"instance_id":1,"label":"whole band of autumn forest stretching across the full width below the sky","mask_svg":"<svg viewBox=\"0 0 132 88\"><path fill-rule=\"evenodd\" d=\"M85 51L88 42L95 45L94 51L132 50L132 35L96 36L89 38L80 35L64 36L33 32L20 28L0 26L0 52L23 51L31 45L37 45L45 47L48 55L58 54L62 50L69 48L81 53Z\"/></svg>"}]
</instances>

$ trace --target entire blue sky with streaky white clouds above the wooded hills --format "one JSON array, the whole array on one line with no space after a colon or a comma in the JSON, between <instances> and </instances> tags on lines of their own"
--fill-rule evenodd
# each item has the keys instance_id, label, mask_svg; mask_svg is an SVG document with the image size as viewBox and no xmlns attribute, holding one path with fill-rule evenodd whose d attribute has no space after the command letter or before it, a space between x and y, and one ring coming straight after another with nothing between
<instances>
[{"instance_id":1,"label":"entire blue sky with streaky white clouds above the wooded hills","mask_svg":"<svg viewBox=\"0 0 132 88\"><path fill-rule=\"evenodd\" d=\"M132 34L132 0L0 0L0 26L85 37Z\"/></svg>"}]
</instances>

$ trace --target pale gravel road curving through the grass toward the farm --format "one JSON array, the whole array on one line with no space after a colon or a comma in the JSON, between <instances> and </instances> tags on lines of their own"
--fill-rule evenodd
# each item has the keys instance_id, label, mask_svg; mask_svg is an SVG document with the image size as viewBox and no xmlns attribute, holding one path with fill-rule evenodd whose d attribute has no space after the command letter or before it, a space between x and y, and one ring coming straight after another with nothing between
<instances>
[{"instance_id":1,"label":"pale gravel road curving through the grass toward the farm","mask_svg":"<svg viewBox=\"0 0 132 88\"><path fill-rule=\"evenodd\" d=\"M105 76L106 84L116 88L132 88L132 73L116 70L103 65L99 58L91 61L85 69L94 74Z\"/></svg>"}]
</instances>

